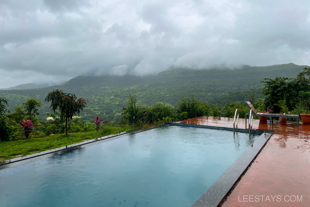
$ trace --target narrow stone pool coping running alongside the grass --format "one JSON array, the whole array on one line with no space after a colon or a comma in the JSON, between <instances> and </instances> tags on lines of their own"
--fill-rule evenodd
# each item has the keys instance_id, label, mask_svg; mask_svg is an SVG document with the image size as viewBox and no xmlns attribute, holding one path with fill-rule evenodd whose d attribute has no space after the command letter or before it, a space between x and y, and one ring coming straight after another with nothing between
<instances>
[{"instance_id":1,"label":"narrow stone pool coping running alongside the grass","mask_svg":"<svg viewBox=\"0 0 310 207\"><path fill-rule=\"evenodd\" d=\"M154 129L154 128L159 128L159 127L166 126L166 125L168 125L168 124L159 125L159 126L156 126L156 127L142 129L142 130L133 131L133 132L121 132L121 133L118 133L118 134L112 134L112 135L100 137L100 138L98 138L98 140L91 139L91 140L87 140L87 141L84 141L84 142L79 142L79 143L76 143L76 144L59 147L59 148L52 149L52 150L42 151L42 152L34 153L34 154L31 154L31 155L26 155L26 156L22 156L22 157L13 158L11 160L4 160L4 161L0 162L0 170L1 169L5 169L5 168L9 168L9 167L12 167L12 166L20 165L20 164L25 164L25 163L32 162L32 161L35 161L35 160L40 160L40 159L43 159L43 158L46 158L46 157L60 155L60 154L63 154L63 153L69 152L69 151L81 149L81 148L86 147L86 146L91 146L91 145L99 144L101 142L106 142L108 140L113 140L113 139L117 139L117 138L120 138L120 137L125 137L125 136L131 135L131 134L136 134L136 133L139 133L139 132L144 132L144 131L147 131L147 130L151 130L151 129Z\"/></svg>"}]
</instances>

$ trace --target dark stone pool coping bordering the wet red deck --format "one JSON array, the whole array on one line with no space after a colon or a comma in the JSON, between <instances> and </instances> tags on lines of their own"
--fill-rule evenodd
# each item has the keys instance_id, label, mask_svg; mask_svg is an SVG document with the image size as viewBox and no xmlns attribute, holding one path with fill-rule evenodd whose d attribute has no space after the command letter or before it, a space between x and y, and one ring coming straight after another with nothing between
<instances>
[{"instance_id":1,"label":"dark stone pool coping bordering the wet red deck","mask_svg":"<svg viewBox=\"0 0 310 207\"><path fill-rule=\"evenodd\" d=\"M224 129L233 131L233 128L214 127L199 124L184 124L176 122L167 122L167 124L175 126L197 127L197 128L212 128ZM235 132L249 133L249 129L235 129ZM250 164L257 157L259 152L266 145L274 131L251 129L251 133L262 133L251 146L234 162L232 165L217 179L207 191L192 205L192 207L213 207L220 206L228 193L237 184L242 175L246 172Z\"/></svg>"}]
</instances>

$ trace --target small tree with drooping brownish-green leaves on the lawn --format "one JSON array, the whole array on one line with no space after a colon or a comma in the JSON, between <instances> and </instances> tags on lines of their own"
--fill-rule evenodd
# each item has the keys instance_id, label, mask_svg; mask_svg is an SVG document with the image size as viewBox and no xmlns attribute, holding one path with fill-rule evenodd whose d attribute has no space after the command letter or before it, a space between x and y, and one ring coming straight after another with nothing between
<instances>
[{"instance_id":1,"label":"small tree with drooping brownish-green leaves on the lawn","mask_svg":"<svg viewBox=\"0 0 310 207\"><path fill-rule=\"evenodd\" d=\"M56 89L48 93L45 101L50 102L51 110L59 110L60 118L65 119L66 125L66 135L68 134L68 120L72 120L72 117L76 114L80 115L80 112L86 106L86 100L84 98L79 98L72 93L64 93L60 89Z\"/></svg>"}]
</instances>

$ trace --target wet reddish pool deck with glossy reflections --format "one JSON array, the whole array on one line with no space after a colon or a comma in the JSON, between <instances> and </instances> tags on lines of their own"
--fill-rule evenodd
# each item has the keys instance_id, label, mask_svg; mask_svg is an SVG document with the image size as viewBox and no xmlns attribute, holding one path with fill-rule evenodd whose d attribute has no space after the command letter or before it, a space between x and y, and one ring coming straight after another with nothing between
<instances>
[{"instance_id":1,"label":"wet reddish pool deck with glossy reflections","mask_svg":"<svg viewBox=\"0 0 310 207\"><path fill-rule=\"evenodd\" d=\"M203 116L181 123L232 127L233 119ZM247 128L245 119L238 128ZM222 206L310 206L310 125L253 120L253 128L275 132Z\"/></svg>"}]
</instances>

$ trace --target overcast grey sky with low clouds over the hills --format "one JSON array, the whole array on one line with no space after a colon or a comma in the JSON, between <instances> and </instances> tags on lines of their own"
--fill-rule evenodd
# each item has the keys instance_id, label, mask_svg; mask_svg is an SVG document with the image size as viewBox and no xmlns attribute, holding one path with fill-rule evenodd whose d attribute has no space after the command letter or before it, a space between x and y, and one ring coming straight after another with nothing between
<instances>
[{"instance_id":1,"label":"overcast grey sky with low clouds over the hills","mask_svg":"<svg viewBox=\"0 0 310 207\"><path fill-rule=\"evenodd\" d=\"M170 65L310 65L309 30L309 0L1 0L0 88Z\"/></svg>"}]
</instances>

